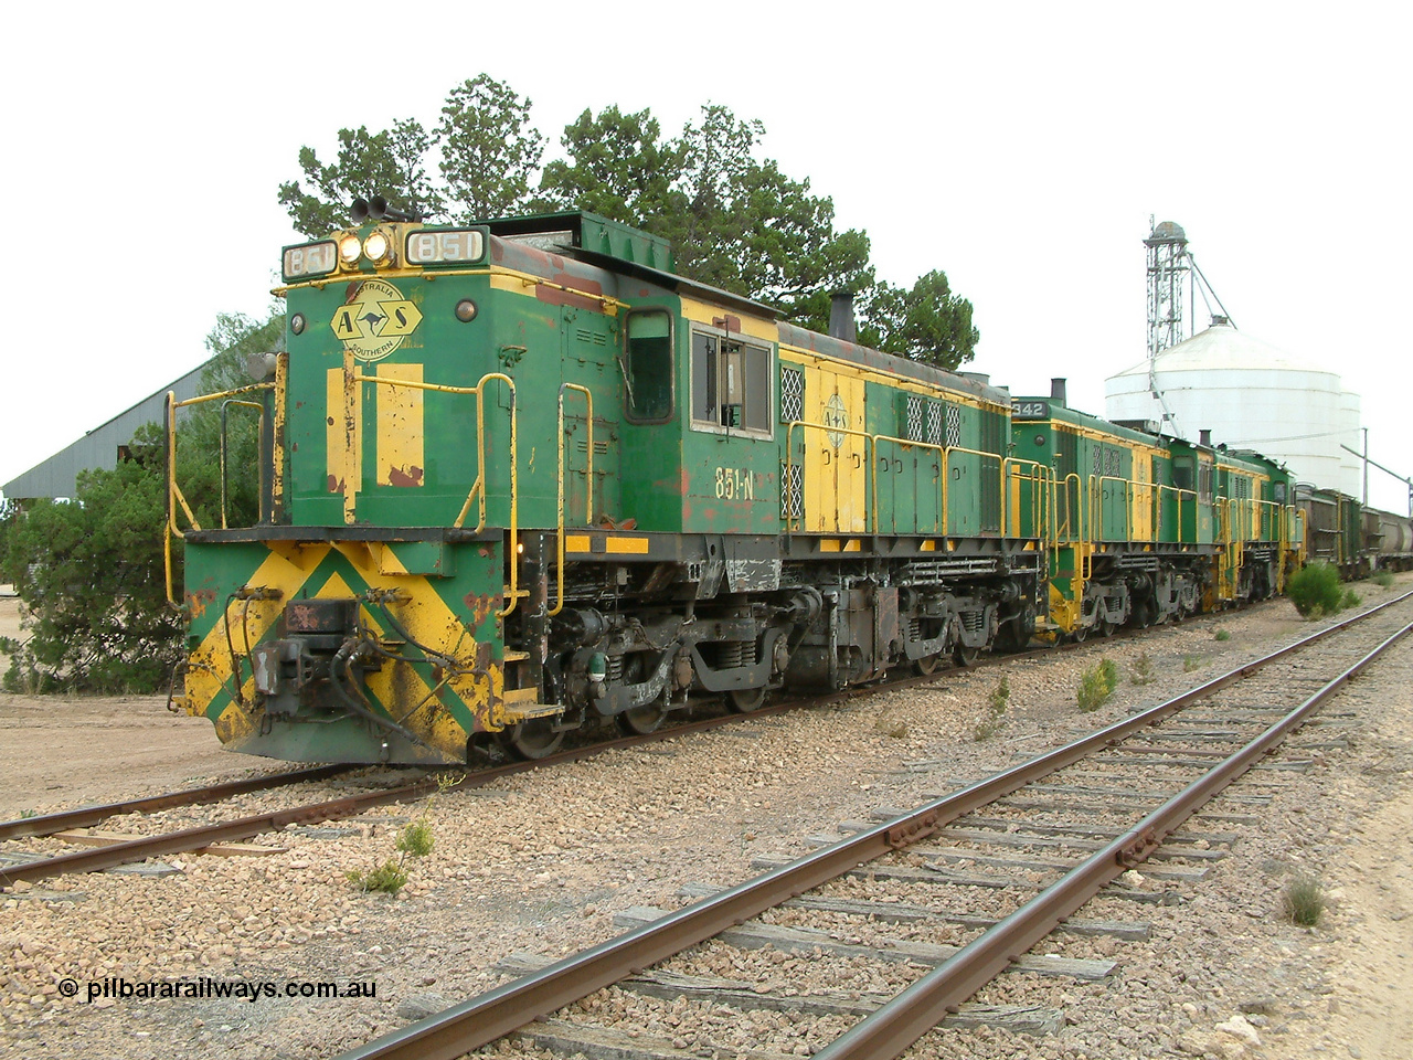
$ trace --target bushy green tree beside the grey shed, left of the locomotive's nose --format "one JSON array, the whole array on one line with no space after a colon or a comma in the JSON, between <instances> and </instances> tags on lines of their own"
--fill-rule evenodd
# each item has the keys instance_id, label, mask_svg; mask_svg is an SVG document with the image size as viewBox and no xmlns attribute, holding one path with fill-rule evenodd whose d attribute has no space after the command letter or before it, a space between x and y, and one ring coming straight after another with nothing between
<instances>
[{"instance_id":1,"label":"bushy green tree beside the grey shed, left of the locomotive's nose","mask_svg":"<svg viewBox=\"0 0 1413 1060\"><path fill-rule=\"evenodd\" d=\"M264 321L218 317L202 391L247 386L246 355L277 351L283 336L280 310ZM259 416L240 406L229 416L226 510L230 526L250 526L260 513ZM182 413L177 437L182 492L202 527L220 526L220 403ZM182 623L167 602L164 571L161 427L138 428L129 451L131 459L116 469L81 475L75 503L40 500L0 514L0 579L14 582L30 612L28 642L10 646L10 687L151 691L181 656ZM179 540L172 563L179 587Z\"/></svg>"}]
</instances>

